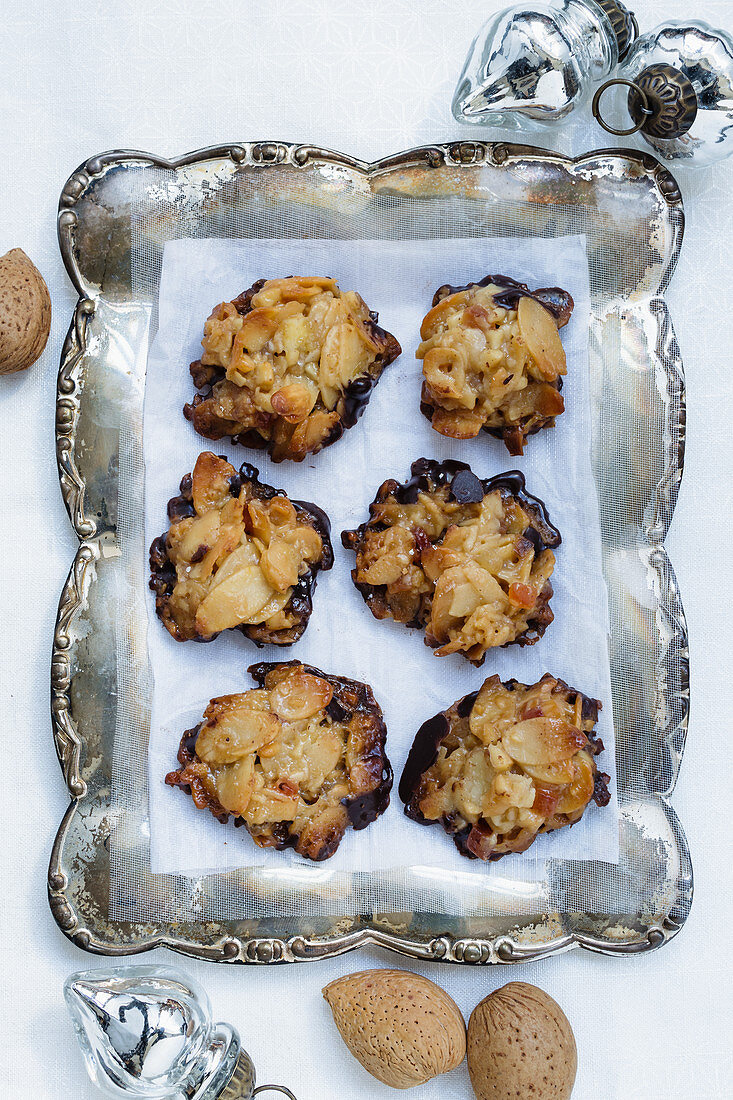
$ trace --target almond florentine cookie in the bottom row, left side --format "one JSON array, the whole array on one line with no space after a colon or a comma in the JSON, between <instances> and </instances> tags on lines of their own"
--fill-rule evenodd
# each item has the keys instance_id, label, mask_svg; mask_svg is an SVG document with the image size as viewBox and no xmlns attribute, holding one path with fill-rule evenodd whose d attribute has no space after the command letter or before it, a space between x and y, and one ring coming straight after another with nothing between
<instances>
[{"instance_id":1,"label":"almond florentine cookie in the bottom row, left side","mask_svg":"<svg viewBox=\"0 0 733 1100\"><path fill-rule=\"evenodd\" d=\"M211 700L165 781L222 823L231 814L261 848L328 859L349 825L389 805L382 712L366 684L299 661L250 672L260 686Z\"/></svg>"}]
</instances>

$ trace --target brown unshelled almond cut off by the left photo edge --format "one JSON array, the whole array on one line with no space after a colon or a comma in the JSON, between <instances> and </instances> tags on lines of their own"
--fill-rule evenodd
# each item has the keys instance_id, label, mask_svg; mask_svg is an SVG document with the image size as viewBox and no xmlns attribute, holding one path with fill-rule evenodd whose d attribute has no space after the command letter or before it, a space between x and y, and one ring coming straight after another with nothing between
<instances>
[{"instance_id":1,"label":"brown unshelled almond cut off by the left photo edge","mask_svg":"<svg viewBox=\"0 0 733 1100\"><path fill-rule=\"evenodd\" d=\"M24 371L43 352L51 330L51 297L22 249L0 256L0 374Z\"/></svg>"}]
</instances>

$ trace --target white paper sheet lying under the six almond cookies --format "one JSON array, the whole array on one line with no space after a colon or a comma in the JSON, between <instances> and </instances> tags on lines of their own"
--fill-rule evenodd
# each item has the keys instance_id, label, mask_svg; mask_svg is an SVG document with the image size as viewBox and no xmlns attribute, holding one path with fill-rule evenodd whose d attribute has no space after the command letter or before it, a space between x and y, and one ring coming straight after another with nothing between
<instances>
[{"instance_id":1,"label":"white paper sheet lying under the six almond cookies","mask_svg":"<svg viewBox=\"0 0 733 1100\"><path fill-rule=\"evenodd\" d=\"M533 436L523 458L482 433L464 442L434 431L418 408L420 364L415 360L419 324L435 289L500 272L530 286L561 286L576 302L562 330L568 358L564 395L567 411L555 428ZM195 393L188 364L200 355L204 321L219 301L230 300L258 278L291 274L336 277L357 289L380 323L402 343L373 391L357 426L333 447L300 464L274 464L263 453L229 441L210 442L184 419L183 405ZM253 686L247 667L260 660L298 658L324 671L366 681L384 712L387 752L395 772L386 813L363 832L348 831L326 865L329 870L386 870L429 866L492 875L547 858L619 860L614 735L608 653L608 604L601 574L601 536L590 463L591 407L588 377L589 283L584 239L445 239L413 241L179 240L165 245L158 299L158 331L147 362L144 411L146 544L167 527L166 503L178 492L203 450L227 454L233 465L253 462L261 480L292 497L314 501L329 515L336 564L321 573L305 636L284 649L258 650L239 632L210 644L176 642L157 620L149 600L149 652L154 674L150 735L151 859L155 873L200 873L240 867L297 865L313 875L318 866L293 851L258 848L243 828L222 826L190 798L166 787L176 767L184 729L200 721L209 698ZM553 574L555 622L535 646L489 651L475 669L464 658L437 658L423 634L374 619L354 588L353 554L340 532L368 516L368 506L386 477L404 481L420 457L469 462L481 477L521 469L530 493L545 501L562 534ZM599 758L611 774L611 804L591 804L569 829L540 836L522 856L497 865L469 861L439 826L424 827L404 816L397 782L420 724L483 679L499 673L533 683L551 672L603 702Z\"/></svg>"}]
</instances>

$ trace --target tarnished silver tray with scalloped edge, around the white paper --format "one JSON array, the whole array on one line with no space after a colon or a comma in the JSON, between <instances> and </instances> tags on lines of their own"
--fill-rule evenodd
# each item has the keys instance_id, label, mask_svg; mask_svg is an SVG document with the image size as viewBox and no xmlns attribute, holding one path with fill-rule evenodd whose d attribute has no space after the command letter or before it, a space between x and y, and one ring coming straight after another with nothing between
<instances>
[{"instance_id":1,"label":"tarnished silver tray with scalloped edge, around the white paper","mask_svg":"<svg viewBox=\"0 0 733 1100\"><path fill-rule=\"evenodd\" d=\"M53 847L48 892L75 944L103 955L163 945L240 963L322 958L376 944L475 964L571 947L628 955L676 935L690 910L692 870L668 800L689 682L683 612L664 538L682 470L685 405L663 295L682 229L669 173L648 154L619 150L573 161L525 145L461 141L365 164L309 145L258 142L175 161L114 151L74 173L61 197L58 235L79 301L58 375L56 448L80 544L61 597L52 662L54 737L72 801ZM578 232L587 235L591 274L592 447L611 605L621 862L550 861L539 895L527 900L505 880L491 904L467 892L461 916L440 912L445 881L425 873L407 876L392 894L384 883L378 892L370 876L354 876L342 884L343 912L332 898L319 909L310 887L277 884L260 872L185 884L153 876L145 839L144 547L135 534L143 468L139 447L120 453L120 439L134 443L142 422L165 241ZM134 612L124 623L110 614L120 584ZM132 680L120 678L121 652ZM125 710L136 715L140 745L120 759L116 727ZM116 796L118 768L132 769L139 783L134 804ZM122 864L112 866L120 850ZM254 899L256 913L222 920L216 906L207 909L230 889ZM190 897L187 912L169 906L180 890ZM331 894L338 899L338 890ZM134 904L142 895L144 919Z\"/></svg>"}]
</instances>

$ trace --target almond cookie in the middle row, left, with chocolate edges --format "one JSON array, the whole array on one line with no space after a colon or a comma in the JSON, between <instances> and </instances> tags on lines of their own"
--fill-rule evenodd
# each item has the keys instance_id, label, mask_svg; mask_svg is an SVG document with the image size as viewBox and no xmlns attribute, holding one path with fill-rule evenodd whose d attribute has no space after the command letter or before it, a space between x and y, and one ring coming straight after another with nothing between
<instances>
[{"instance_id":1,"label":"almond cookie in the middle row, left, with chocolate edges","mask_svg":"<svg viewBox=\"0 0 733 1100\"><path fill-rule=\"evenodd\" d=\"M289 646L306 626L319 569L333 562L326 515L239 474L225 458L199 454L171 527L151 547L155 609L177 641L210 641L239 629L258 645Z\"/></svg>"}]
</instances>

